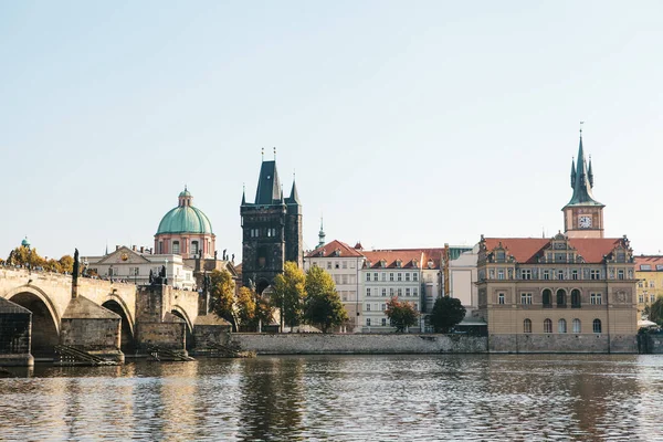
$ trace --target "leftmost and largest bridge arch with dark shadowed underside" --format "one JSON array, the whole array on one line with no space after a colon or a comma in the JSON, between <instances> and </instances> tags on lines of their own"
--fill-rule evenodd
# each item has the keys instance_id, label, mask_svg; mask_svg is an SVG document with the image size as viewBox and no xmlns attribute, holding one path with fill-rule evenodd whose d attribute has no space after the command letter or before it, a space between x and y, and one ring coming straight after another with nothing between
<instances>
[{"instance_id":1,"label":"leftmost and largest bridge arch with dark shadowed underside","mask_svg":"<svg viewBox=\"0 0 663 442\"><path fill-rule=\"evenodd\" d=\"M32 355L53 357L54 347L60 343L61 318L52 299L33 285L15 287L3 297L32 312Z\"/></svg>"}]
</instances>

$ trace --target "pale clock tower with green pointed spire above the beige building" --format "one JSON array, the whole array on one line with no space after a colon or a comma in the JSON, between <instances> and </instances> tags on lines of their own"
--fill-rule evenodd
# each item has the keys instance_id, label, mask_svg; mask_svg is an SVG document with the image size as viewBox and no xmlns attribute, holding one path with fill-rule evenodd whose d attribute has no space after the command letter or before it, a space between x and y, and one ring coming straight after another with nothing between
<instances>
[{"instance_id":1,"label":"pale clock tower with green pointed spire above the beige building","mask_svg":"<svg viewBox=\"0 0 663 442\"><path fill-rule=\"evenodd\" d=\"M594 200L593 173L591 157L589 166L582 150L582 129L580 129L580 147L578 164L571 160L571 188L573 196L561 211L564 212L564 230L568 238L603 238L603 208Z\"/></svg>"}]
</instances>

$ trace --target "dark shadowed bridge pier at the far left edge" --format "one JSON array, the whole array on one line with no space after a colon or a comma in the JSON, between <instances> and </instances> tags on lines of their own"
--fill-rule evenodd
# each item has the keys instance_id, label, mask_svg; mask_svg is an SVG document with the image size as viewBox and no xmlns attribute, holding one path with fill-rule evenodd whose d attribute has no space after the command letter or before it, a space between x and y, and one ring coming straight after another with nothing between
<instances>
[{"instance_id":1,"label":"dark shadowed bridge pier at the far left edge","mask_svg":"<svg viewBox=\"0 0 663 442\"><path fill-rule=\"evenodd\" d=\"M32 312L0 297L0 367L31 367Z\"/></svg>"}]
</instances>

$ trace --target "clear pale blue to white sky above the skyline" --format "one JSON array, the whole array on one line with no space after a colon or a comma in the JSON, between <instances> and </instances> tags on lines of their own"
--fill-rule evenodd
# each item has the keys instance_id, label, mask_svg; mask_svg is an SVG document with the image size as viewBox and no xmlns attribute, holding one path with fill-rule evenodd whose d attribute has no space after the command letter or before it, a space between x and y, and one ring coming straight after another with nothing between
<instances>
[{"instance_id":1,"label":"clear pale blue to white sky above the skyline","mask_svg":"<svg viewBox=\"0 0 663 442\"><path fill-rule=\"evenodd\" d=\"M592 155L606 235L663 250L663 2L0 2L0 255L154 245L188 185L241 256L277 148L304 239L564 229Z\"/></svg>"}]
</instances>

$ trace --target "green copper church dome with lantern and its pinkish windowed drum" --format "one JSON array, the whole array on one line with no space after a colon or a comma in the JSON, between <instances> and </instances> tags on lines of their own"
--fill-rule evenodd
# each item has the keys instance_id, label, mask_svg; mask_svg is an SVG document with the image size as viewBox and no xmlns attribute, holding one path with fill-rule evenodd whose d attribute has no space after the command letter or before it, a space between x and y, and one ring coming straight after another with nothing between
<instances>
[{"instance_id":1,"label":"green copper church dome with lantern and its pinkish windowed drum","mask_svg":"<svg viewBox=\"0 0 663 442\"><path fill-rule=\"evenodd\" d=\"M210 219L192 204L193 197L185 186L178 204L164 215L155 234L155 252L173 253L183 259L212 259L215 235Z\"/></svg>"}]
</instances>

